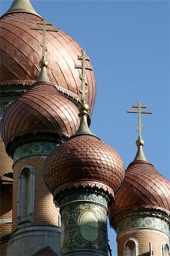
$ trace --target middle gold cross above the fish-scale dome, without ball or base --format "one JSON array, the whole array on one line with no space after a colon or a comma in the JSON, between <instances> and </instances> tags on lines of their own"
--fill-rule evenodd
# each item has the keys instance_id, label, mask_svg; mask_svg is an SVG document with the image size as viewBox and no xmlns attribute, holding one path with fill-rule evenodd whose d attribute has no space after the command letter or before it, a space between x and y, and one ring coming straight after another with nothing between
<instances>
[{"instance_id":1,"label":"middle gold cross above the fish-scale dome, without ball or base","mask_svg":"<svg viewBox=\"0 0 170 256\"><path fill-rule=\"evenodd\" d=\"M85 85L87 85L88 83L85 80L85 69L89 69L92 70L93 67L92 66L86 66L86 60L90 60L90 58L88 56L86 56L86 51L85 50L81 50L82 51L82 56L78 56L78 60L82 60L82 65L77 65L75 64L75 68L81 68L82 72L80 75L80 79L81 79L81 89L79 89L80 93L81 93L81 101L85 101L86 100L86 93L88 92L88 89L86 89Z\"/></svg>"}]
</instances>

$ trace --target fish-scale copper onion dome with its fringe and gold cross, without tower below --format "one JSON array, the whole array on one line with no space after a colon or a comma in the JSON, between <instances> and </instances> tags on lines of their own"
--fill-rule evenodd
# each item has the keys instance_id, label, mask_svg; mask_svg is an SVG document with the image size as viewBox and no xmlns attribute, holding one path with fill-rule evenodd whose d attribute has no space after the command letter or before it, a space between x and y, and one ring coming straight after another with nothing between
<instances>
[{"instance_id":1,"label":"fish-scale copper onion dome with its fringe and gold cross, without tower below","mask_svg":"<svg viewBox=\"0 0 170 256\"><path fill-rule=\"evenodd\" d=\"M89 106L85 102L85 60L89 57L82 50L82 102L80 127L71 138L55 148L45 160L43 177L54 200L59 203L60 192L71 188L98 188L112 201L125 176L124 164L118 152L100 141L88 127ZM92 67L91 67L92 68Z\"/></svg>"}]
</instances>

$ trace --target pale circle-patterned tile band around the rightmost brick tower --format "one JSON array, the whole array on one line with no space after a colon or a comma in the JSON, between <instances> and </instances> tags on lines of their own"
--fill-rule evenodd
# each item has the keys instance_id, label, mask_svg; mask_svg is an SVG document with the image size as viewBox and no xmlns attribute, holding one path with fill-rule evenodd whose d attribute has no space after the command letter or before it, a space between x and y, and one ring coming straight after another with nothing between
<instances>
[{"instance_id":1,"label":"pale circle-patterned tile band around the rightmost brick tower","mask_svg":"<svg viewBox=\"0 0 170 256\"><path fill-rule=\"evenodd\" d=\"M151 228L168 234L169 226L164 220L155 217L131 217L121 221L117 226L117 234L131 228Z\"/></svg>"}]
</instances>

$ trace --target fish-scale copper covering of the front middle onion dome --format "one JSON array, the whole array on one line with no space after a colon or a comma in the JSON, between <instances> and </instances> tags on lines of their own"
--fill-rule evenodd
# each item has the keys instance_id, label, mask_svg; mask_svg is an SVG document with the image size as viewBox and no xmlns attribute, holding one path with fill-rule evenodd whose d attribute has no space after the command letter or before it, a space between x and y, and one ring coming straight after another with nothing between
<instances>
[{"instance_id":1,"label":"fish-scale copper covering of the front middle onion dome","mask_svg":"<svg viewBox=\"0 0 170 256\"><path fill-rule=\"evenodd\" d=\"M121 156L90 135L72 137L55 148L45 160L43 177L49 191L73 181L99 181L116 192L125 176Z\"/></svg>"}]
</instances>

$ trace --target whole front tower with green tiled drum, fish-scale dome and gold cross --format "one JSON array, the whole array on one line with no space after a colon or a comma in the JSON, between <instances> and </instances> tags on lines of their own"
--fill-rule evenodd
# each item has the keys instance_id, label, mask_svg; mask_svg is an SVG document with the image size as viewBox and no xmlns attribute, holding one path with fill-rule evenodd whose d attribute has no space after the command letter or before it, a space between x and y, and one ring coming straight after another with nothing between
<instances>
[{"instance_id":1,"label":"whole front tower with green tiled drum, fish-scale dome and gold cross","mask_svg":"<svg viewBox=\"0 0 170 256\"><path fill-rule=\"evenodd\" d=\"M82 50L80 127L55 148L44 165L44 181L61 214L61 256L108 255L107 212L125 176L118 152L89 130L85 61Z\"/></svg>"}]
</instances>

